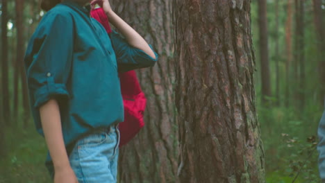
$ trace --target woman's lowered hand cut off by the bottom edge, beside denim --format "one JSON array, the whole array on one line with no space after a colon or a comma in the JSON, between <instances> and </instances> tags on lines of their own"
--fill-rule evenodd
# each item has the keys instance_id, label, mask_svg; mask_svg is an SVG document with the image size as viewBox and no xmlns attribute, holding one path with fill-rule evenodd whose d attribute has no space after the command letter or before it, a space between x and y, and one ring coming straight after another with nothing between
<instances>
[{"instance_id":1,"label":"woman's lowered hand cut off by the bottom edge, beside denim","mask_svg":"<svg viewBox=\"0 0 325 183\"><path fill-rule=\"evenodd\" d=\"M76 175L71 167L56 169L54 183L78 183Z\"/></svg>"}]
</instances>

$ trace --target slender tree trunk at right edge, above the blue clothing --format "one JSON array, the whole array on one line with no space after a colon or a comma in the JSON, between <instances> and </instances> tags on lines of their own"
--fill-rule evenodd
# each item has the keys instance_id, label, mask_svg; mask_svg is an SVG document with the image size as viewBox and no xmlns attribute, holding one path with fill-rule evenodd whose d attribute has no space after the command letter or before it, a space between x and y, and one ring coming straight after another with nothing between
<instances>
[{"instance_id":1,"label":"slender tree trunk at right edge, above the blue clothing","mask_svg":"<svg viewBox=\"0 0 325 183\"><path fill-rule=\"evenodd\" d=\"M314 8L314 22L317 33L317 44L319 48L319 85L321 87L320 94L322 105L325 100L325 28L324 28L324 16L322 15L322 0L313 0L313 8Z\"/></svg>"}]
</instances>

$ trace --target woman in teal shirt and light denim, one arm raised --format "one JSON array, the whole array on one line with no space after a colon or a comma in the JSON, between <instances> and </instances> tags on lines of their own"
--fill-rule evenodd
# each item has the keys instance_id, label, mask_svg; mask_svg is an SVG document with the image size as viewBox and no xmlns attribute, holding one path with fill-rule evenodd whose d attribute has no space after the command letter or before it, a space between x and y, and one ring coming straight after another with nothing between
<instances>
[{"instance_id":1,"label":"woman in teal shirt and light denim, one arm raised","mask_svg":"<svg viewBox=\"0 0 325 183\"><path fill-rule=\"evenodd\" d=\"M118 72L152 67L151 45L96 0L123 35L90 18L89 0L44 0L48 10L28 43L25 68L35 125L49 148L54 182L116 182L124 121ZM54 7L55 6L55 7Z\"/></svg>"}]
</instances>

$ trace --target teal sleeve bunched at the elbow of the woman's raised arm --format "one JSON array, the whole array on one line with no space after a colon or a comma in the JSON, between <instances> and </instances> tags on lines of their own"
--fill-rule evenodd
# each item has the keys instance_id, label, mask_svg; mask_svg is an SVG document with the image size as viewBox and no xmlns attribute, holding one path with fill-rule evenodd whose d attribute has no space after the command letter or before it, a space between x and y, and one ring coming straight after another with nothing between
<instances>
[{"instance_id":1,"label":"teal sleeve bunched at the elbow of the woman's raised arm","mask_svg":"<svg viewBox=\"0 0 325 183\"><path fill-rule=\"evenodd\" d=\"M149 46L155 54L156 59L153 59L150 55L141 49L137 49L128 44L124 37L119 35L119 33L117 33L115 30L110 33L110 40L115 51L119 72L130 71L144 67L152 67L158 60L158 54L153 51L151 44L149 44Z\"/></svg>"}]
</instances>

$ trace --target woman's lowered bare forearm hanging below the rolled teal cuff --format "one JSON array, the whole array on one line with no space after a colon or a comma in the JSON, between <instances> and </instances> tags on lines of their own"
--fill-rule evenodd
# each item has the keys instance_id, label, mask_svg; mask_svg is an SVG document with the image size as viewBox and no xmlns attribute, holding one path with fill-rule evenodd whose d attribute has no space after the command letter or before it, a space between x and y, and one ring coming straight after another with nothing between
<instances>
[{"instance_id":1,"label":"woman's lowered bare forearm hanging below the rolled teal cuff","mask_svg":"<svg viewBox=\"0 0 325 183\"><path fill-rule=\"evenodd\" d=\"M58 102L51 99L42 105L40 107L40 118L54 168L58 170L58 168L63 169L70 167L65 143L63 141Z\"/></svg>"}]
</instances>

